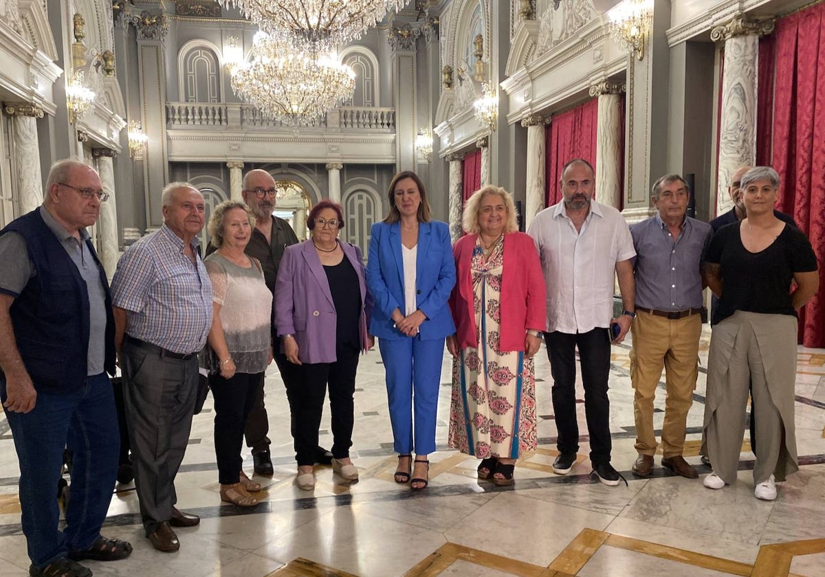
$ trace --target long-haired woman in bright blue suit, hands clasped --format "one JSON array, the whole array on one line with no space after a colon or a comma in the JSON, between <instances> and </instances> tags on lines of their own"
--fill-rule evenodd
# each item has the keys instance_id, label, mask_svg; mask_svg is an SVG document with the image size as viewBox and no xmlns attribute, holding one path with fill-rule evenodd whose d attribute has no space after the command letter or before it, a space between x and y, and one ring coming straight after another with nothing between
<instances>
[{"instance_id":1,"label":"long-haired woman in bright blue suit, hands clasped","mask_svg":"<svg viewBox=\"0 0 825 577\"><path fill-rule=\"evenodd\" d=\"M398 452L395 482L410 481L414 465L410 486L419 490L429 481L427 456L436 450L444 341L455 333L447 307L455 260L450 230L446 223L430 220L427 193L413 171L395 175L388 196L389 214L370 233L366 282L375 299L370 334L379 338L387 372Z\"/></svg>"}]
</instances>

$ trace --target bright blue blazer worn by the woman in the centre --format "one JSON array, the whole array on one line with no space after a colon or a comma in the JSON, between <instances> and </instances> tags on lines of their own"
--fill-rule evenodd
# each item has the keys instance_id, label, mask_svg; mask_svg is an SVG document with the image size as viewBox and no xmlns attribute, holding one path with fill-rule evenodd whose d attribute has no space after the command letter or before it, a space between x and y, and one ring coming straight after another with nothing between
<instances>
[{"instance_id":1,"label":"bright blue blazer worn by the woman in the centre","mask_svg":"<svg viewBox=\"0 0 825 577\"><path fill-rule=\"evenodd\" d=\"M455 284L455 260L446 223L418 223L416 306L427 316L419 327L422 340L444 339L455 333L447 300ZM370 334L380 339L408 338L394 327L391 315L404 312L404 263L399 223L375 223L370 232L366 284L375 299Z\"/></svg>"}]
</instances>

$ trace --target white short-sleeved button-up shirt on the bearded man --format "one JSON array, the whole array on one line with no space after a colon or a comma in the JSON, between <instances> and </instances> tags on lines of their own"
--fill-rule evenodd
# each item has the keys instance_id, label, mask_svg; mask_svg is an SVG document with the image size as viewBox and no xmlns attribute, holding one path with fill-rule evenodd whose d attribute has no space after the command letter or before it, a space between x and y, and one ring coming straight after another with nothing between
<instances>
[{"instance_id":1,"label":"white short-sleeved button-up shirt on the bearded man","mask_svg":"<svg viewBox=\"0 0 825 577\"><path fill-rule=\"evenodd\" d=\"M621 213L592 201L577 231L562 201L536 214L527 233L539 250L547 284L547 332L610 326L615 264L636 256Z\"/></svg>"}]
</instances>

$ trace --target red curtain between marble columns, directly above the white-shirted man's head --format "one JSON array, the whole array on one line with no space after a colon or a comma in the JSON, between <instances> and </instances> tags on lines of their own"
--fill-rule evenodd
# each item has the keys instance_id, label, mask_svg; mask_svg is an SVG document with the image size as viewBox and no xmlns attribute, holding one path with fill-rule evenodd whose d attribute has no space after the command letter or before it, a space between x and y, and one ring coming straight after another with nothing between
<instances>
[{"instance_id":1,"label":"red curtain between marble columns, directly above the white-shirted man's head","mask_svg":"<svg viewBox=\"0 0 825 577\"><path fill-rule=\"evenodd\" d=\"M573 158L584 158L595 166L598 113L599 101L594 98L573 110L554 115L549 129L544 130L544 150L547 151L545 206L556 204L562 199L559 182L565 162Z\"/></svg>"}]
</instances>

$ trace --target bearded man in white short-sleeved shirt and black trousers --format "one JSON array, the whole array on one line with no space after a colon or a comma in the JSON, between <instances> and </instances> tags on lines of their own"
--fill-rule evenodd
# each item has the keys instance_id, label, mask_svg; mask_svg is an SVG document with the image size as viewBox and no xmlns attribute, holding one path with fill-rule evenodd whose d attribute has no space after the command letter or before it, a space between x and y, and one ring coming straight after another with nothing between
<instances>
[{"instance_id":1,"label":"bearded man in white short-sleeved shirt and black trousers","mask_svg":"<svg viewBox=\"0 0 825 577\"><path fill-rule=\"evenodd\" d=\"M547 284L547 329L544 341L553 373L553 409L559 432L559 457L553 470L566 475L578 451L576 364L578 348L584 383L584 410L590 435L590 461L599 481L619 484L610 465L610 324L619 327L613 342L624 340L634 312L631 259L633 238L621 213L594 197L591 164L576 158L564 165L563 199L542 210L528 234L539 250ZM614 270L625 311L613 316Z\"/></svg>"}]
</instances>

